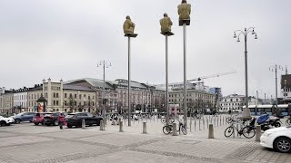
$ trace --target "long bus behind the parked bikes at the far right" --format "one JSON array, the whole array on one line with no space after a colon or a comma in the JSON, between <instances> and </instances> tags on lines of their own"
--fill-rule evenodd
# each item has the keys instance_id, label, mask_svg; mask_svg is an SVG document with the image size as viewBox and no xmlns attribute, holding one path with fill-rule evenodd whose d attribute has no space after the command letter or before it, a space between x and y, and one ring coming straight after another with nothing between
<instances>
[{"instance_id":1,"label":"long bus behind the parked bikes at the far right","mask_svg":"<svg viewBox=\"0 0 291 163\"><path fill-rule=\"evenodd\" d=\"M243 107L243 109L245 108L246 106ZM253 116L265 113L269 115L276 114L276 105L249 105L248 109ZM291 104L278 104L278 110L280 111L280 115L288 116L291 112Z\"/></svg>"}]
</instances>

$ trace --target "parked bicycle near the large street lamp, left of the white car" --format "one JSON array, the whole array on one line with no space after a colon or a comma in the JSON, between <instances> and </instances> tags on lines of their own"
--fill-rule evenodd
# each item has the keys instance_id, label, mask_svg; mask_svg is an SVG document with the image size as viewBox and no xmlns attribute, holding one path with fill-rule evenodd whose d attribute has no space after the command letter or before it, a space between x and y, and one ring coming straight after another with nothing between
<instances>
[{"instance_id":1,"label":"parked bicycle near the large street lamp, left of the white car","mask_svg":"<svg viewBox=\"0 0 291 163\"><path fill-rule=\"evenodd\" d=\"M242 128L242 129L236 128L235 125L229 126L225 130L226 138L235 134L235 130L237 131L237 136L244 135L244 137L246 137L247 139L253 138L256 135L255 122L256 122L256 118L252 118L250 125L247 125L246 127Z\"/></svg>"}]
</instances>

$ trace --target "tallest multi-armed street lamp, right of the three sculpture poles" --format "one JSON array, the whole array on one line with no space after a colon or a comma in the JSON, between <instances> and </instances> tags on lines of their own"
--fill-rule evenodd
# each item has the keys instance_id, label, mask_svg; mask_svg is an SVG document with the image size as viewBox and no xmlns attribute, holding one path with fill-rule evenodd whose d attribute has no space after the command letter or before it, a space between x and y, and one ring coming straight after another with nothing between
<instances>
[{"instance_id":1,"label":"tallest multi-armed street lamp, right of the three sculpture poles","mask_svg":"<svg viewBox=\"0 0 291 163\"><path fill-rule=\"evenodd\" d=\"M247 50L246 50L246 41L247 41L247 34L251 33L251 34L256 34L255 32L255 27L250 27L246 30L245 28L245 31L242 31L242 30L236 30L235 32L235 35L234 35L234 38L237 37L237 42L240 42L239 40L239 36L241 34L244 35L245 37L245 76L246 76L246 110L248 110L248 88L247 88ZM255 35L255 39L257 39L257 36Z\"/></svg>"}]
</instances>

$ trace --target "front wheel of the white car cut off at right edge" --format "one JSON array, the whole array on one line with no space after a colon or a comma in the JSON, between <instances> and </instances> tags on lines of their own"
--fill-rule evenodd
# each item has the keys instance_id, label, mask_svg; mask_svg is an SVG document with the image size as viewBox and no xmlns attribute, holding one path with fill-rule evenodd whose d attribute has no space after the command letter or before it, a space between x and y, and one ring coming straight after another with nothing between
<instances>
[{"instance_id":1,"label":"front wheel of the white car cut off at right edge","mask_svg":"<svg viewBox=\"0 0 291 163\"><path fill-rule=\"evenodd\" d=\"M291 139L286 137L279 137L274 141L274 148L282 153L287 153L291 151Z\"/></svg>"}]
</instances>

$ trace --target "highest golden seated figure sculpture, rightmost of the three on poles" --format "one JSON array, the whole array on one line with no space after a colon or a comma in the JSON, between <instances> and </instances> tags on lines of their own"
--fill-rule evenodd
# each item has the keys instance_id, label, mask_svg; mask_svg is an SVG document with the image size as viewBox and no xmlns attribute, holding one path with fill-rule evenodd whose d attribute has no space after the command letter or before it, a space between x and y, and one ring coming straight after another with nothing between
<instances>
[{"instance_id":1,"label":"highest golden seated figure sculpture, rightmost of the three on poles","mask_svg":"<svg viewBox=\"0 0 291 163\"><path fill-rule=\"evenodd\" d=\"M179 25L190 24L191 5L187 4L186 0L182 0L181 5L178 5Z\"/></svg>"}]
</instances>

